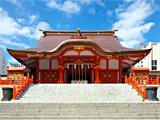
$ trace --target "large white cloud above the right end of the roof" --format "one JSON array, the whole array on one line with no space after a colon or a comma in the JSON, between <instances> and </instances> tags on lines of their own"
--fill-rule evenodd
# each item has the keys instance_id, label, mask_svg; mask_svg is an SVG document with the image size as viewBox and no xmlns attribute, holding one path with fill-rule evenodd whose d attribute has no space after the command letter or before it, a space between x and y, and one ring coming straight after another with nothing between
<instances>
[{"instance_id":1,"label":"large white cloud above the right end of the roof","mask_svg":"<svg viewBox=\"0 0 160 120\"><path fill-rule=\"evenodd\" d=\"M122 7L123 6L123 7ZM113 24L112 29L118 29L116 35L122 39L121 44L126 47L135 47L145 40L147 33L154 23L145 23L147 17L153 12L153 4L143 0L136 0L128 7L120 5L116 9L118 21Z\"/></svg>"}]
</instances>

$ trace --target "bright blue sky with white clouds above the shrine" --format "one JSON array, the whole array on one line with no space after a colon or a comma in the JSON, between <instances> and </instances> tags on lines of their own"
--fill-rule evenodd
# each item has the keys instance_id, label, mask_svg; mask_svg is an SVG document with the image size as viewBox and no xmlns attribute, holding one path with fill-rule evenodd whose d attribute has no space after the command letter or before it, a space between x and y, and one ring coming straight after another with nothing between
<instances>
[{"instance_id":1,"label":"bright blue sky with white clouds above the shrine","mask_svg":"<svg viewBox=\"0 0 160 120\"><path fill-rule=\"evenodd\" d=\"M160 0L0 0L0 47L34 47L44 30L115 30L121 44L160 42Z\"/></svg>"}]
</instances>

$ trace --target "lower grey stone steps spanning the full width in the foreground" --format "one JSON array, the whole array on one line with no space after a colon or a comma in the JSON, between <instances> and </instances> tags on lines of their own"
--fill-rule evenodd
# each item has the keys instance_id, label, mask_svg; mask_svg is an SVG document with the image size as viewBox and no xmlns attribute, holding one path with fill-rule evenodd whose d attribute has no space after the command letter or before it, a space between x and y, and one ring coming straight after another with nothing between
<instances>
[{"instance_id":1,"label":"lower grey stone steps spanning the full width in the foreground","mask_svg":"<svg viewBox=\"0 0 160 120\"><path fill-rule=\"evenodd\" d=\"M160 103L0 103L0 120L158 120Z\"/></svg>"}]
</instances>

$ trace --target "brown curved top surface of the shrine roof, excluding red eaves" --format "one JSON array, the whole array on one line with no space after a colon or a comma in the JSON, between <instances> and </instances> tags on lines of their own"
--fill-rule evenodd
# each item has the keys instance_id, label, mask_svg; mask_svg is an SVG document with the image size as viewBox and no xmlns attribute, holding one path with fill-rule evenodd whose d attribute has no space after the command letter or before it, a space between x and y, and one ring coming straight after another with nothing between
<instances>
[{"instance_id":1,"label":"brown curved top surface of the shrine roof, excluding red eaves","mask_svg":"<svg viewBox=\"0 0 160 120\"><path fill-rule=\"evenodd\" d=\"M62 46L65 45L93 45L103 54L126 54L126 53L145 53L151 49L132 49L123 47L118 37L114 35L115 31L81 31L81 34L87 39L71 39L77 31L43 31L43 36L40 37L38 44L29 49L10 50L12 52L23 53L56 53Z\"/></svg>"}]
</instances>

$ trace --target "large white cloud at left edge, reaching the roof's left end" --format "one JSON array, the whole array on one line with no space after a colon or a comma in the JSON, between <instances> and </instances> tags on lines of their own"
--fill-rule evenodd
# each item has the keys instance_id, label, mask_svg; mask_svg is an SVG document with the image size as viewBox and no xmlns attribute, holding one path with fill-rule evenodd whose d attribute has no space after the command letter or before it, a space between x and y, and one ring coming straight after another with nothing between
<instances>
[{"instance_id":1,"label":"large white cloud at left edge, reaching the roof's left end","mask_svg":"<svg viewBox=\"0 0 160 120\"><path fill-rule=\"evenodd\" d=\"M35 17L33 17L35 19ZM32 19L32 20L33 20ZM39 29L50 29L50 26L46 22L39 22L33 27L21 26L15 19L8 16L8 13L0 7L0 35L22 35L29 38L38 39L42 32Z\"/></svg>"}]
</instances>

